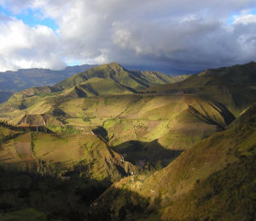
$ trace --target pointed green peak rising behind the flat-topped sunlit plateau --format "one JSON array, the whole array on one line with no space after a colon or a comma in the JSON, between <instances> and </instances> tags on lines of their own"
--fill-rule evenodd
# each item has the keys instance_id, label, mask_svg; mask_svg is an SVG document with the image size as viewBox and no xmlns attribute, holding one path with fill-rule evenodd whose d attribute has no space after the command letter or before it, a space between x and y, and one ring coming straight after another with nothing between
<instances>
[{"instance_id":1,"label":"pointed green peak rising behind the flat-topped sunlit plateau","mask_svg":"<svg viewBox=\"0 0 256 221\"><path fill-rule=\"evenodd\" d=\"M153 85L177 82L182 77L168 77L160 72L128 71L117 63L100 65L55 84L55 88L70 89L67 94L79 97L107 94L131 94Z\"/></svg>"}]
</instances>

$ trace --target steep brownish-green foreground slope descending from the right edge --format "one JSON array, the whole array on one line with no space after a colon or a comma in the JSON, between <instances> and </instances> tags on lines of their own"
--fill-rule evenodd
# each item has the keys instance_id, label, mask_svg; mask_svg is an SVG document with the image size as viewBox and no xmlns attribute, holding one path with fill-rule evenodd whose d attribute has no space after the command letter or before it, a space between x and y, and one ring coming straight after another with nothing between
<instances>
[{"instance_id":1,"label":"steep brownish-green foreground slope descending from the right edge","mask_svg":"<svg viewBox=\"0 0 256 221\"><path fill-rule=\"evenodd\" d=\"M195 144L168 167L113 184L91 207L92 217L253 220L255 137L254 105L236 126Z\"/></svg>"}]
</instances>

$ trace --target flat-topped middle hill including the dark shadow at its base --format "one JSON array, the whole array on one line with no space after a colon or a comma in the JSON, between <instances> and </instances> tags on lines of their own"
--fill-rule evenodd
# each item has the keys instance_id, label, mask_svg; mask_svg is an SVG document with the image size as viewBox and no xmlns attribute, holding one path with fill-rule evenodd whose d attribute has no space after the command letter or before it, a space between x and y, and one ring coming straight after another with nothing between
<instances>
[{"instance_id":1,"label":"flat-topped middle hill including the dark shadow at its base","mask_svg":"<svg viewBox=\"0 0 256 221\"><path fill-rule=\"evenodd\" d=\"M180 150L234 120L223 106L197 96L91 97L71 99L58 108L68 116L67 125L89 132L103 127L108 144L137 165L166 165Z\"/></svg>"}]
</instances>

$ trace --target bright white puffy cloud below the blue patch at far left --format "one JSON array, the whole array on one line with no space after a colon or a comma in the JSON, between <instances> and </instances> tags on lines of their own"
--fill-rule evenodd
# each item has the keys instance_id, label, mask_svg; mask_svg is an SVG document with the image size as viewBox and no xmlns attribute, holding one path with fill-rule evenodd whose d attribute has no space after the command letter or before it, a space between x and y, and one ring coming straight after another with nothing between
<instances>
[{"instance_id":1,"label":"bright white puffy cloud below the blue patch at far left","mask_svg":"<svg viewBox=\"0 0 256 221\"><path fill-rule=\"evenodd\" d=\"M30 27L20 20L0 23L0 70L63 68L59 43L47 26Z\"/></svg>"}]
</instances>

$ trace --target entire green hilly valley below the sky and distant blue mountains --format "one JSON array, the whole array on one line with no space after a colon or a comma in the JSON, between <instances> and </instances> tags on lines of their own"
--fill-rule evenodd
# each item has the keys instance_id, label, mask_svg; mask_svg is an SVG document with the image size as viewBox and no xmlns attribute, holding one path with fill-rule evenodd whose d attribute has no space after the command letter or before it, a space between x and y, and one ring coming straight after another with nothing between
<instances>
[{"instance_id":1,"label":"entire green hilly valley below the sky and distant blue mountains","mask_svg":"<svg viewBox=\"0 0 256 221\"><path fill-rule=\"evenodd\" d=\"M42 220L250 220L255 92L254 62L180 77L111 63L17 92L0 105L0 210ZM241 205L232 216L229 198Z\"/></svg>"}]
</instances>

